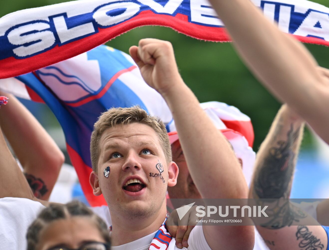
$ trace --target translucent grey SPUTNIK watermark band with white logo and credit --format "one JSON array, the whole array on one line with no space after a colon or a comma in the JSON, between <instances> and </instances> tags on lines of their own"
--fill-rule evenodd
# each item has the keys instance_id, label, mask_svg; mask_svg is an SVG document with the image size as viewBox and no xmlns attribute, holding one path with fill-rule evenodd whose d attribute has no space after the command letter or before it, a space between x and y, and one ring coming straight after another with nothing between
<instances>
[{"instance_id":1,"label":"translucent grey SPUTNIK watermark band with white logo and credit","mask_svg":"<svg viewBox=\"0 0 329 250\"><path fill-rule=\"evenodd\" d=\"M277 227L285 222L290 214L291 225L305 224L302 218L305 203L313 204L311 199L167 199L168 211L175 209L174 216L179 225L189 225L189 221L203 225L261 225ZM186 205L188 204L188 205ZM177 212L177 213L176 213ZM309 220L309 226L317 225ZM329 216L328 216L329 225ZM183 224L182 224L183 223ZM313 224L312 224L313 223ZM171 225L169 225L171 226Z\"/></svg>"}]
</instances>

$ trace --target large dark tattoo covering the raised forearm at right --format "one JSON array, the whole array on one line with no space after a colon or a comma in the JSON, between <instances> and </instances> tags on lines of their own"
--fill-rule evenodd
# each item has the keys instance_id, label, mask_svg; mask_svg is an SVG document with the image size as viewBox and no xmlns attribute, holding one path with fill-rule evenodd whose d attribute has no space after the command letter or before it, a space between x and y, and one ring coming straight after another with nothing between
<instances>
[{"instance_id":1,"label":"large dark tattoo covering the raised forearm at right","mask_svg":"<svg viewBox=\"0 0 329 250\"><path fill-rule=\"evenodd\" d=\"M277 126L274 136L277 136L282 125ZM255 181L254 194L260 199L289 198L291 180L294 171L294 160L298 146L300 127L293 129L291 124L286 140L275 141L275 146L269 149L267 157L258 166ZM291 205L288 200L273 200L269 209L266 210L269 221L262 224L269 229L280 229L291 226L294 221L299 221L307 215L299 208Z\"/></svg>"}]
</instances>

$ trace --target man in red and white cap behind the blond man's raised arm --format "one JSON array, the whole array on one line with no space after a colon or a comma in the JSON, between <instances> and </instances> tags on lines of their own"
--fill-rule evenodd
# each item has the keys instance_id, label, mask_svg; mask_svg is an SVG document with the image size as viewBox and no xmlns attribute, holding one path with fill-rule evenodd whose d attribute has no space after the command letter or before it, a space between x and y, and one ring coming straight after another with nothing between
<instances>
[{"instance_id":1,"label":"man in red and white cap behind the blond man's raised arm","mask_svg":"<svg viewBox=\"0 0 329 250\"><path fill-rule=\"evenodd\" d=\"M255 152L251 148L254 141L254 131L250 118L241 113L236 107L229 106L222 102L204 102L201 103L200 106L216 128L223 133L231 144L248 184L251 181L255 162ZM171 121L166 125L166 128L169 131L168 135L173 161L177 163L180 171L177 185L168 187L169 197L172 199L201 198L188 171L187 163L178 140L179 135L177 134L175 122Z\"/></svg>"}]
</instances>

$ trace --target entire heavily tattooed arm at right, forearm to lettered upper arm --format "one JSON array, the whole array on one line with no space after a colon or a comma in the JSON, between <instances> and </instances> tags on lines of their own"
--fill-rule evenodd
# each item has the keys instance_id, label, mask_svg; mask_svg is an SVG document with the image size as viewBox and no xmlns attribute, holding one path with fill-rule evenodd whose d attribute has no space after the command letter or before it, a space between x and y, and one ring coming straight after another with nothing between
<instances>
[{"instance_id":1,"label":"entire heavily tattooed arm at right, forearm to lettered upper arm","mask_svg":"<svg viewBox=\"0 0 329 250\"><path fill-rule=\"evenodd\" d=\"M297 222L317 224L288 200L303 128L303 120L283 105L257 154L249 198L276 199L258 204L269 206L269 217L257 229L270 249L316 250L327 246L328 237L321 226L292 226Z\"/></svg>"}]
</instances>

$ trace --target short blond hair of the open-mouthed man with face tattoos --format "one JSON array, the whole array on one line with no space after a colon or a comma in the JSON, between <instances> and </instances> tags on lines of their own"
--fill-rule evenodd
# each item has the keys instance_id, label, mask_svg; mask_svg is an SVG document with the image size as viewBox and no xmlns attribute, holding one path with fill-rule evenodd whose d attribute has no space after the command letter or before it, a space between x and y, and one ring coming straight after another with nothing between
<instances>
[{"instance_id":1,"label":"short blond hair of the open-mouthed man with face tattoos","mask_svg":"<svg viewBox=\"0 0 329 250\"><path fill-rule=\"evenodd\" d=\"M169 163L172 159L169 137L164 123L160 118L153 117L139 106L130 108L111 108L101 114L97 122L94 124L94 130L90 139L90 156L91 164L94 172L97 173L97 164L99 158L99 140L103 132L110 127L116 125L127 125L131 123L141 123L150 126L157 133L160 145L164 151L164 156Z\"/></svg>"}]
</instances>

